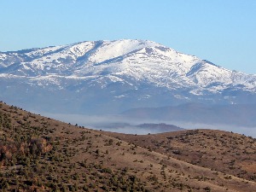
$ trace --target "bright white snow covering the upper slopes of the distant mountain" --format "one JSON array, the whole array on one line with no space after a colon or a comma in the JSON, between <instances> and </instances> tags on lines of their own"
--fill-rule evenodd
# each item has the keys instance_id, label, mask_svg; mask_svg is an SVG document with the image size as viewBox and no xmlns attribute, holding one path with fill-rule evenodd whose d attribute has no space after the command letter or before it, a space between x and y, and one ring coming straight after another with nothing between
<instances>
[{"instance_id":1,"label":"bright white snow covering the upper slopes of the distant mountain","mask_svg":"<svg viewBox=\"0 0 256 192\"><path fill-rule=\"evenodd\" d=\"M123 79L127 84L143 81L169 90L193 87L193 93L218 92L230 84L242 84L244 89L255 90L256 79L255 75L235 73L194 55L137 39L85 41L3 52L0 53L0 70L1 73L26 77L108 78L104 84L113 79Z\"/></svg>"}]
</instances>

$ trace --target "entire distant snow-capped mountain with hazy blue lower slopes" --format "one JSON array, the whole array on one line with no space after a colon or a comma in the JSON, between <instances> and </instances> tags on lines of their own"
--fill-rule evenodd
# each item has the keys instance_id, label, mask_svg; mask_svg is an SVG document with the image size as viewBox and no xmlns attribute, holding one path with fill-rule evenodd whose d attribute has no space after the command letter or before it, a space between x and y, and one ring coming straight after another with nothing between
<instances>
[{"instance_id":1,"label":"entire distant snow-capped mountain with hazy blue lower slopes","mask_svg":"<svg viewBox=\"0 0 256 192\"><path fill-rule=\"evenodd\" d=\"M55 113L256 102L256 75L147 40L0 52L0 84L1 100Z\"/></svg>"}]
</instances>

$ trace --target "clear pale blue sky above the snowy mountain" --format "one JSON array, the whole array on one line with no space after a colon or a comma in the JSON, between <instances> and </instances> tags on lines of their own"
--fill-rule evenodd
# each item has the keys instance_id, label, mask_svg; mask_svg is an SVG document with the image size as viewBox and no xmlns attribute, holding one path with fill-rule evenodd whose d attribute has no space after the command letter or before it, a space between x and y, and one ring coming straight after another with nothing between
<instances>
[{"instance_id":1,"label":"clear pale blue sky above the snowy mountain","mask_svg":"<svg viewBox=\"0 0 256 192\"><path fill-rule=\"evenodd\" d=\"M0 0L0 51L148 39L256 73L255 0Z\"/></svg>"}]
</instances>

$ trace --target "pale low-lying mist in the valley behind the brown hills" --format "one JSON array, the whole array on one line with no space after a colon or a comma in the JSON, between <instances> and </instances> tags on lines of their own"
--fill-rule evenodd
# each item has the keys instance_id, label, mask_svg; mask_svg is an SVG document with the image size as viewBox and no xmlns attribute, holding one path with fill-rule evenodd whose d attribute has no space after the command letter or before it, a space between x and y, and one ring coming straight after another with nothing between
<instances>
[{"instance_id":1,"label":"pale low-lying mist in the valley behind the brown hills","mask_svg":"<svg viewBox=\"0 0 256 192\"><path fill-rule=\"evenodd\" d=\"M64 114L64 113L41 113L52 119L58 119L73 125L80 125L91 129L113 131L126 134L146 135L148 133L166 132L166 129L152 129L145 127L137 127L141 124L166 124L176 125L183 129L212 129L222 131L233 131L244 134L249 137L256 138L256 127L246 127L241 125L207 125L200 123L166 121L154 119L131 119L121 115L83 115L83 114ZM170 130L173 131L173 130Z\"/></svg>"}]
</instances>

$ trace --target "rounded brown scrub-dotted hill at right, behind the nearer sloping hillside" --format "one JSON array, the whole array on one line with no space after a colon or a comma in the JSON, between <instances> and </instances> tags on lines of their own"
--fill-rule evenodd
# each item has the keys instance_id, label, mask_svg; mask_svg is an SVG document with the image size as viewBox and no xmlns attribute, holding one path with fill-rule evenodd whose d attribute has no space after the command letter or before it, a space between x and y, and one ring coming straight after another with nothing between
<instances>
[{"instance_id":1,"label":"rounded brown scrub-dotted hill at right, behind the nearer sloping hillside","mask_svg":"<svg viewBox=\"0 0 256 192\"><path fill-rule=\"evenodd\" d=\"M256 139L227 131L191 130L154 135L106 133L197 166L256 181Z\"/></svg>"}]
</instances>

